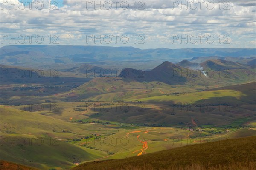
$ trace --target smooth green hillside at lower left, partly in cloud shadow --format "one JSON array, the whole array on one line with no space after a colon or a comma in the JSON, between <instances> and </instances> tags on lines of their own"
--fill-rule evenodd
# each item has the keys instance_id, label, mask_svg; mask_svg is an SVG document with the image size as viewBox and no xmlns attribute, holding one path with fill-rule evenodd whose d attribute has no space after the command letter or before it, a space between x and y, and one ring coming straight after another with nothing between
<instances>
[{"instance_id":1,"label":"smooth green hillside at lower left, partly in cloud shadow","mask_svg":"<svg viewBox=\"0 0 256 170\"><path fill-rule=\"evenodd\" d=\"M40 114L49 111L29 112L3 105L0 109L1 159L41 169L67 169L75 163L108 156L104 151L80 147L71 141L118 131Z\"/></svg>"}]
</instances>

